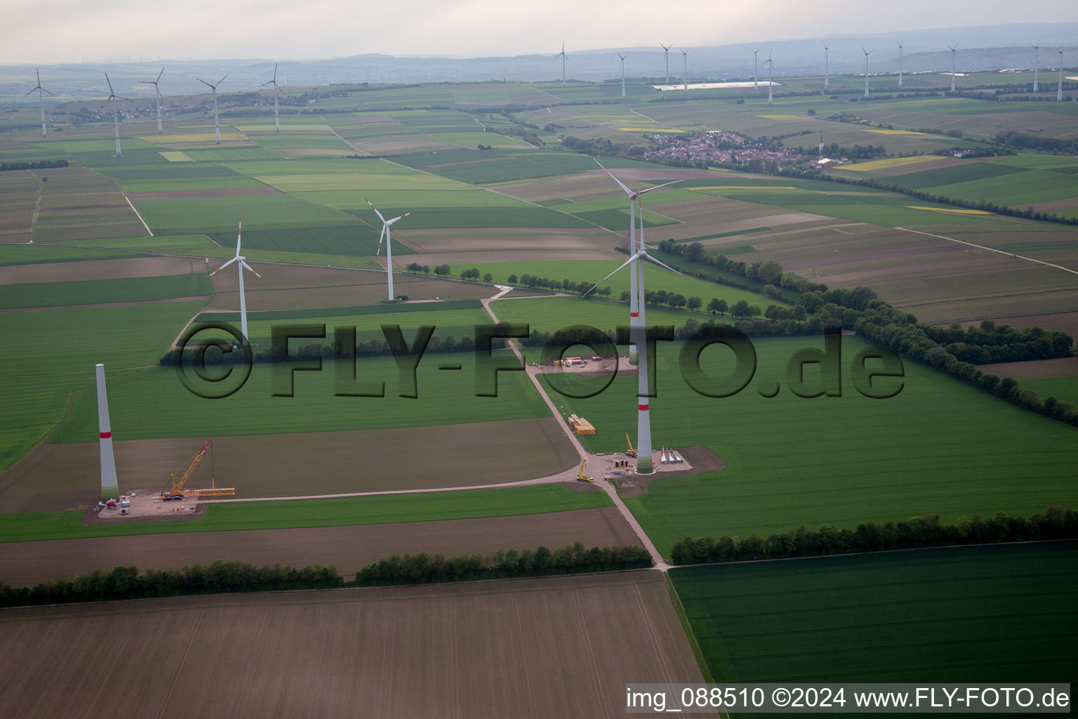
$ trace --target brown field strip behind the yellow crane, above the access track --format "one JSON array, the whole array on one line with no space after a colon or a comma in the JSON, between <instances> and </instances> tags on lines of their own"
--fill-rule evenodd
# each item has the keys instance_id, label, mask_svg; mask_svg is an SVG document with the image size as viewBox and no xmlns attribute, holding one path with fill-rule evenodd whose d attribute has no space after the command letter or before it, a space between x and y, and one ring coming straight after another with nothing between
<instances>
[{"instance_id":1,"label":"brown field strip behind the yellow crane, above the access track","mask_svg":"<svg viewBox=\"0 0 1078 719\"><path fill-rule=\"evenodd\" d=\"M549 416L213 438L211 462L195 471L191 485L209 486L212 473L218 484L235 486L244 498L498 484L556 474L579 464ZM197 434L132 440L118 431L113 446L124 492L167 487L169 475L203 441ZM416 453L419 447L423 452ZM4 475L0 512L86 509L97 501L97 493L84 481L84 468L93 467L97 456L97 442L39 447Z\"/></svg>"}]
</instances>

